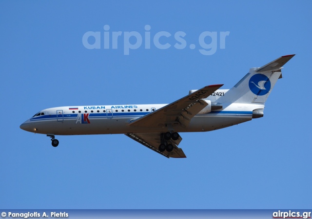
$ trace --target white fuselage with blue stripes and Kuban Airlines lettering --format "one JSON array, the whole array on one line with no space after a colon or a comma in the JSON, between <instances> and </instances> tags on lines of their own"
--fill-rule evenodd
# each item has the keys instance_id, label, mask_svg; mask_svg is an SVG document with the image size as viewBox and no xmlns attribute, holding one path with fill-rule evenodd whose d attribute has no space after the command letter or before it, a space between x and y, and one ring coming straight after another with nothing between
<instances>
[{"instance_id":1,"label":"white fuselage with blue stripes and Kuban Airlines lettering","mask_svg":"<svg viewBox=\"0 0 312 219\"><path fill-rule=\"evenodd\" d=\"M25 121L20 128L41 134L81 135L153 133L168 131L166 126L134 127L131 121L158 110L166 104L103 105L56 107L41 110ZM264 108L261 104L223 104L222 110L196 114L187 130L174 127L177 132L213 131L252 119L253 110ZM39 115L40 114L40 115Z\"/></svg>"}]
</instances>

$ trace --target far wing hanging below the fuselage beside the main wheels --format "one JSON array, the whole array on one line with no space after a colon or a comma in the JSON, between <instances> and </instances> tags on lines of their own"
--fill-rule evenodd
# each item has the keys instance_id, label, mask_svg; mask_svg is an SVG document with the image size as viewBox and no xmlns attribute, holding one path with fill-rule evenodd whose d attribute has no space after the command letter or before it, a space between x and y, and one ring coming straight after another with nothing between
<instances>
[{"instance_id":1,"label":"far wing hanging below the fuselage beside the main wheels","mask_svg":"<svg viewBox=\"0 0 312 219\"><path fill-rule=\"evenodd\" d=\"M177 147L182 140L181 136L179 136L179 138L176 141L172 139L170 140L172 145L174 146L174 150L172 152L158 151L158 146L160 145L160 134L161 133L130 133L130 134L125 134L125 135L137 141L138 143L144 145L145 147L157 153L160 153L161 155L165 157L186 158L182 149Z\"/></svg>"}]
</instances>

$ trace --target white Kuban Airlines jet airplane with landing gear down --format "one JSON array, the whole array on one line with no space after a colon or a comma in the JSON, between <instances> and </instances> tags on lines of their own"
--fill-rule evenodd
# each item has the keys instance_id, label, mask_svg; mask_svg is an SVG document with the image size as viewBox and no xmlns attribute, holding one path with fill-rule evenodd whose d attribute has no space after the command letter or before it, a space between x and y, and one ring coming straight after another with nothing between
<instances>
[{"instance_id":1,"label":"white Kuban Airlines jet airplane with landing gear down","mask_svg":"<svg viewBox=\"0 0 312 219\"><path fill-rule=\"evenodd\" d=\"M231 89L209 85L190 90L171 104L55 107L37 112L20 125L25 131L55 135L125 134L165 156L186 158L179 132L213 131L263 117L264 105L281 69L294 55L254 67Z\"/></svg>"}]
</instances>

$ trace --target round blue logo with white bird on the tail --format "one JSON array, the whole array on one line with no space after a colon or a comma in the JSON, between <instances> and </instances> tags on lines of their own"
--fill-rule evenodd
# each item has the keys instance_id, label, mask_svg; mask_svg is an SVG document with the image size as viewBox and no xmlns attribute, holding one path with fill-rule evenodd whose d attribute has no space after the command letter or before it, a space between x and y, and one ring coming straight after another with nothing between
<instances>
[{"instance_id":1,"label":"round blue logo with white bird on the tail","mask_svg":"<svg viewBox=\"0 0 312 219\"><path fill-rule=\"evenodd\" d=\"M249 80L249 88L256 95L265 95L271 89L270 79L264 74L255 74Z\"/></svg>"}]
</instances>

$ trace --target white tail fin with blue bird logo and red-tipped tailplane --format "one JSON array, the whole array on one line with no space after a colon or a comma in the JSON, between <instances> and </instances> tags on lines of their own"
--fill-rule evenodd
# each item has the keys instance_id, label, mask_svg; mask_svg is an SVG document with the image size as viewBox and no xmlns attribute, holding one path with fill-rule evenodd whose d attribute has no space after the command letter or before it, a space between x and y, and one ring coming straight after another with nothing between
<instances>
[{"instance_id":1,"label":"white tail fin with blue bird logo and red-tipped tailplane","mask_svg":"<svg viewBox=\"0 0 312 219\"><path fill-rule=\"evenodd\" d=\"M265 103L276 81L282 77L282 66L293 56L282 56L265 66L251 68L223 98L218 99L218 102Z\"/></svg>"}]
</instances>

